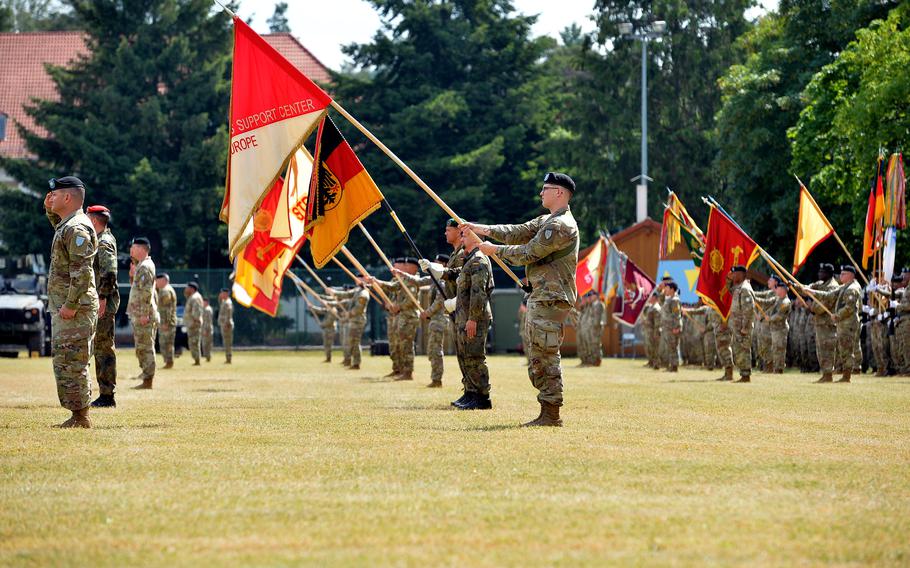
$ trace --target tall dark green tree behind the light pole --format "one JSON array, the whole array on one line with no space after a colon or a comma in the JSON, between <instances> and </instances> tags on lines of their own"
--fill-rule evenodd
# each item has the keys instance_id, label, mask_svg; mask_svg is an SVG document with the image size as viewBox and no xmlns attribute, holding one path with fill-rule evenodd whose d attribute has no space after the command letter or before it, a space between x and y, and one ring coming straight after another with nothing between
<instances>
[{"instance_id":1,"label":"tall dark green tree behind the light pole","mask_svg":"<svg viewBox=\"0 0 910 568\"><path fill-rule=\"evenodd\" d=\"M714 114L720 107L717 79L734 61L735 40L749 29L751 0L676 2L598 0L598 29L570 46L574 57L563 73L565 104L548 153L583 188L573 199L588 238L602 228L635 221L640 171L641 49L618 25L641 28L665 20L666 33L648 45L648 212L659 219L665 188L684 201L717 185ZM693 208L695 209L695 208ZM693 213L697 212L693 211Z\"/></svg>"}]
</instances>

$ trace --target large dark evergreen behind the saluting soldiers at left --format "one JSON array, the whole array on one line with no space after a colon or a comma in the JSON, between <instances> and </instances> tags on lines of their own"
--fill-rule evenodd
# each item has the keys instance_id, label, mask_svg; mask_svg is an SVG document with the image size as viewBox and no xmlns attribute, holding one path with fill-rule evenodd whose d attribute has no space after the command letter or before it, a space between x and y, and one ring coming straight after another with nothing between
<instances>
[{"instance_id":1,"label":"large dark evergreen behind the saluting soldiers at left","mask_svg":"<svg viewBox=\"0 0 910 568\"><path fill-rule=\"evenodd\" d=\"M59 101L27 109L48 135L23 130L34 158L2 160L35 196L73 173L89 203L113 212L120 242L144 235L169 266L226 264L224 187L230 20L208 0L73 3L87 56L50 69ZM18 228L0 227L11 249ZM42 229L47 242L49 226Z\"/></svg>"}]
</instances>

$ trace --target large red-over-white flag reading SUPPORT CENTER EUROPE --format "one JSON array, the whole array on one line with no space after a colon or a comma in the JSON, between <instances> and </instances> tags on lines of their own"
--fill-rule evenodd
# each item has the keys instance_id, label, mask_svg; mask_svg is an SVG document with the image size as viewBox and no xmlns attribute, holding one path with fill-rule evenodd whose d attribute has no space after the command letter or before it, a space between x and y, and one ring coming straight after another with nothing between
<instances>
[{"instance_id":1,"label":"large red-over-white flag reading SUPPORT CENTER EUROPE","mask_svg":"<svg viewBox=\"0 0 910 568\"><path fill-rule=\"evenodd\" d=\"M234 18L231 141L221 220L233 257L249 221L332 99L243 20Z\"/></svg>"}]
</instances>

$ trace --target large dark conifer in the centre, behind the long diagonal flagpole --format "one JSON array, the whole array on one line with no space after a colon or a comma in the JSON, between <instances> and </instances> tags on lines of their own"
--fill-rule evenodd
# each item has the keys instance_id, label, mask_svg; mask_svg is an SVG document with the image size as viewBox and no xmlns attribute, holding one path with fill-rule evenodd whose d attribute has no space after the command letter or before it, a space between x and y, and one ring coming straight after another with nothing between
<instances>
[{"instance_id":1,"label":"large dark conifer in the centre, behind the long diagonal flagpole","mask_svg":"<svg viewBox=\"0 0 910 568\"><path fill-rule=\"evenodd\" d=\"M551 111L538 81L555 42L532 39L534 18L516 15L507 0L373 4L383 28L371 43L346 46L365 72L335 74L337 100L461 216L515 222L540 214L540 146ZM442 249L448 215L362 136L339 127L415 240ZM368 219L371 232L392 252L406 252L379 215Z\"/></svg>"}]
</instances>

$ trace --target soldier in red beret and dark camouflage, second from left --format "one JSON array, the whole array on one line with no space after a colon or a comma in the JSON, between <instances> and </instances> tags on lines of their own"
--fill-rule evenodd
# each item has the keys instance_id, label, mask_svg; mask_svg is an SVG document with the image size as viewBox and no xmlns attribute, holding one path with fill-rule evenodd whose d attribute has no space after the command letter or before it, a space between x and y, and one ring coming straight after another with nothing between
<instances>
[{"instance_id":1,"label":"soldier in red beret and dark camouflage, second from left","mask_svg":"<svg viewBox=\"0 0 910 568\"><path fill-rule=\"evenodd\" d=\"M98 235L95 254L95 288L98 291L98 325L95 328L95 377L101 394L92 402L95 407L117 406L117 352L114 350L114 318L120 308L117 288L117 239L108 228L111 212L104 205L92 205L86 210Z\"/></svg>"}]
</instances>

